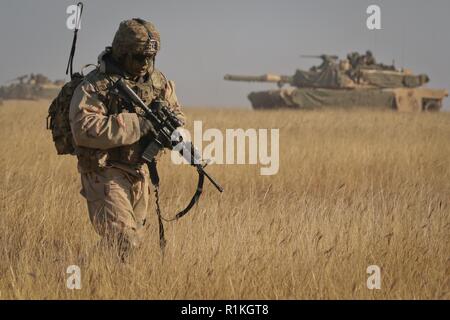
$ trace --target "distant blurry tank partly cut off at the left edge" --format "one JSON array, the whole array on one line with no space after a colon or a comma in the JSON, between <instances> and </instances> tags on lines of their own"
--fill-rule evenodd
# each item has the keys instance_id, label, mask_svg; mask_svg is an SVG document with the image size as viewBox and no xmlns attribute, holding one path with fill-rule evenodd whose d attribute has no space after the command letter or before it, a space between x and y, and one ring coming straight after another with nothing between
<instances>
[{"instance_id":1,"label":"distant blurry tank partly cut off at the left edge","mask_svg":"<svg viewBox=\"0 0 450 320\"><path fill-rule=\"evenodd\" d=\"M17 77L0 87L0 100L53 99L64 85L63 80L51 81L42 74L29 74Z\"/></svg>"}]
</instances>

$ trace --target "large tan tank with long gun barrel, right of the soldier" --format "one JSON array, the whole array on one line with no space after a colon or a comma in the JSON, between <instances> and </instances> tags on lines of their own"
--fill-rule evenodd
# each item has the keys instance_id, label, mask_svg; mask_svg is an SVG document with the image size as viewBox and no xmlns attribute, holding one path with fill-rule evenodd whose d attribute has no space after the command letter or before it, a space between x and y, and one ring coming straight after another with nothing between
<instances>
[{"instance_id":1,"label":"large tan tank with long gun barrel, right of the soldier","mask_svg":"<svg viewBox=\"0 0 450 320\"><path fill-rule=\"evenodd\" d=\"M291 76L225 75L225 80L270 82L278 89L251 92L254 109L314 109L321 107L368 107L398 111L438 111L448 92L426 87L426 74L398 70L394 64L377 63L370 51L352 52L339 60L335 55L302 56L318 58L320 65L296 70Z\"/></svg>"}]
</instances>

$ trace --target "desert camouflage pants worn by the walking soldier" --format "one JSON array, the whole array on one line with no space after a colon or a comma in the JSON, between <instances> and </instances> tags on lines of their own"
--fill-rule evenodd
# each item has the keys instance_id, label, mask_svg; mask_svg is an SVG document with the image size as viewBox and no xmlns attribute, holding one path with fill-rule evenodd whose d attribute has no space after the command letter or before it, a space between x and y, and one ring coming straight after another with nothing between
<instances>
[{"instance_id":1,"label":"desert camouflage pants worn by the walking soldier","mask_svg":"<svg viewBox=\"0 0 450 320\"><path fill-rule=\"evenodd\" d=\"M148 218L147 169L139 174L117 168L81 173L81 184L95 231L118 243L121 251L139 247Z\"/></svg>"}]
</instances>

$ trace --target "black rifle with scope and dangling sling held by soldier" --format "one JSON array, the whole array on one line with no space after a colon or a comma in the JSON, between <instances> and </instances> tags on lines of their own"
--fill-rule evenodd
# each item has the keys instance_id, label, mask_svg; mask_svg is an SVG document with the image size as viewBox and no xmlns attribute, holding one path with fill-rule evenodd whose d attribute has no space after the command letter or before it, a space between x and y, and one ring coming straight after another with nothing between
<instances>
[{"instance_id":1,"label":"black rifle with scope and dangling sling held by soldier","mask_svg":"<svg viewBox=\"0 0 450 320\"><path fill-rule=\"evenodd\" d=\"M208 164L208 161L202 161L202 157L200 152L194 146L191 141L184 141L183 137L177 131L177 128L182 127L184 125L183 121L180 120L175 112L168 108L167 104L163 100L155 100L152 104L147 106L144 101L131 89L127 83L120 78L116 81L116 83L112 87L113 91L120 95L127 103L131 103L134 107L139 106L144 110L145 117L150 120L155 127L157 132L156 138L152 139L152 141L147 145L144 152L142 153L142 159L147 163L150 171L150 178L152 180L153 185L155 186L155 194L156 194L156 205L157 205L157 214L159 219L159 236L160 236L160 246L161 250L164 251L165 247L165 239L164 239L164 228L161 220L165 221L173 221L178 220L182 216L184 216L198 201L200 195L202 193L203 181L204 177L206 177L219 192L223 192L223 188L212 178L206 171L205 167ZM158 154L158 152L164 148L168 148L170 150L177 150L180 155L193 167L197 169L197 173L199 175L199 180L197 184L197 190L192 197L188 206L177 213L174 218L166 219L161 216L161 212L159 209L159 196L158 196L158 187L159 187L159 177L156 171L156 162L154 161L154 157ZM204 162L204 164L202 164Z\"/></svg>"}]
</instances>

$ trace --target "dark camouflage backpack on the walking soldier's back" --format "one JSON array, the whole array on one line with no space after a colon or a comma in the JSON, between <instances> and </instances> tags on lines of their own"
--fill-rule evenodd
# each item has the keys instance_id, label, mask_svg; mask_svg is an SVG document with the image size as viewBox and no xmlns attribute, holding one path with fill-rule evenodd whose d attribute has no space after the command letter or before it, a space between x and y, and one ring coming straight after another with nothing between
<instances>
[{"instance_id":1,"label":"dark camouflage backpack on the walking soldier's back","mask_svg":"<svg viewBox=\"0 0 450 320\"><path fill-rule=\"evenodd\" d=\"M52 131L53 143L57 154L75 154L69 111L73 93L83 81L81 73L74 73L72 79L59 91L58 96L48 108L47 129Z\"/></svg>"}]
</instances>

